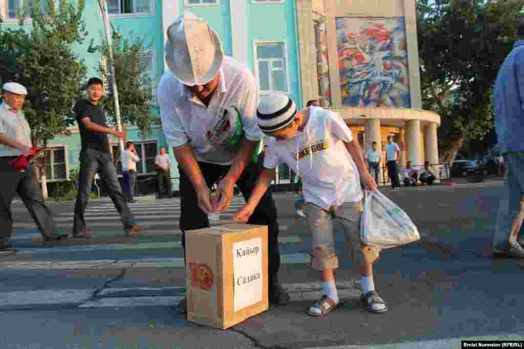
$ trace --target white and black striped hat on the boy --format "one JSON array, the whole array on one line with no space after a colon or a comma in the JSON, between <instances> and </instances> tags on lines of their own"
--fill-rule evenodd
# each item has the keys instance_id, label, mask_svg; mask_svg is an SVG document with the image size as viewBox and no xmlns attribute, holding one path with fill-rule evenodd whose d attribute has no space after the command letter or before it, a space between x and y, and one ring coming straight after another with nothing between
<instances>
[{"instance_id":1,"label":"white and black striped hat on the boy","mask_svg":"<svg viewBox=\"0 0 524 349\"><path fill-rule=\"evenodd\" d=\"M274 132L288 126L297 115L297 106L286 95L271 95L260 99L257 108L258 127Z\"/></svg>"}]
</instances>

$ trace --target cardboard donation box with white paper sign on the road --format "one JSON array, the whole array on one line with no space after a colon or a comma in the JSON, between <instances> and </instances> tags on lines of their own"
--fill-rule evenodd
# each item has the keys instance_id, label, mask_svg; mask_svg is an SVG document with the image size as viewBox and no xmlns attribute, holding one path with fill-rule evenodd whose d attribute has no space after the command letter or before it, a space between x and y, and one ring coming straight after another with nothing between
<instances>
[{"instance_id":1,"label":"cardboard donation box with white paper sign on the road","mask_svg":"<svg viewBox=\"0 0 524 349\"><path fill-rule=\"evenodd\" d=\"M187 231L188 320L227 329L269 308L267 227Z\"/></svg>"}]
</instances>

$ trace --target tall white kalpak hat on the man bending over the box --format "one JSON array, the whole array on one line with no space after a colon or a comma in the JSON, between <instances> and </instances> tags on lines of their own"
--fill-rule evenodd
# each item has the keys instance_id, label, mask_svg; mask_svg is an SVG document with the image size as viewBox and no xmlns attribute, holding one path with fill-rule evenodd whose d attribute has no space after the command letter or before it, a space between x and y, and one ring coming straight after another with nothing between
<instances>
[{"instance_id":1,"label":"tall white kalpak hat on the man bending over the box","mask_svg":"<svg viewBox=\"0 0 524 349\"><path fill-rule=\"evenodd\" d=\"M191 12L174 20L167 29L166 63L184 85L203 85L216 76L224 52L219 37Z\"/></svg>"}]
</instances>

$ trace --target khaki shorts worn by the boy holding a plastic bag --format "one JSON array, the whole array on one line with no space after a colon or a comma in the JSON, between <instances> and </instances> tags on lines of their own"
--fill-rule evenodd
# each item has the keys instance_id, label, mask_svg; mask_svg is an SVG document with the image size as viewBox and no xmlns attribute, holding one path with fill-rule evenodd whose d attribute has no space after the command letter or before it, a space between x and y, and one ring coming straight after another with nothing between
<instances>
[{"instance_id":1,"label":"khaki shorts worn by the boy holding a plastic bag","mask_svg":"<svg viewBox=\"0 0 524 349\"><path fill-rule=\"evenodd\" d=\"M324 210L311 202L304 205L304 213L311 229L311 267L318 271L339 267L339 255L335 252L335 224L342 226L345 235L345 251L352 261L353 271L358 271L365 261L364 248L378 256L380 248L365 246L360 237L361 215L364 211L361 201L346 202Z\"/></svg>"}]
</instances>

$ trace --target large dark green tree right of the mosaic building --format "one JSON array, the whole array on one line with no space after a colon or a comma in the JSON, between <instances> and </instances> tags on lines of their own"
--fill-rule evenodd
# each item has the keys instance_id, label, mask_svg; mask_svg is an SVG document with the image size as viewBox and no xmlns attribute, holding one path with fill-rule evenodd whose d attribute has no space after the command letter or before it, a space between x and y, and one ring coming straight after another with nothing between
<instances>
[{"instance_id":1,"label":"large dark green tree right of the mosaic building","mask_svg":"<svg viewBox=\"0 0 524 349\"><path fill-rule=\"evenodd\" d=\"M441 163L494 125L492 87L524 0L417 0L422 106L441 116Z\"/></svg>"}]
</instances>

